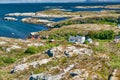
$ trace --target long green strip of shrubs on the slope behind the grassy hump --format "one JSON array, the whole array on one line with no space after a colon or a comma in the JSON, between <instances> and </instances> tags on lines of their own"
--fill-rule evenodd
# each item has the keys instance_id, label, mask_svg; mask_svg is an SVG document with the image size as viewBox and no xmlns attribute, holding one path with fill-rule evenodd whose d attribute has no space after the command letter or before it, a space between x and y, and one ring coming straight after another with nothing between
<instances>
[{"instance_id":1,"label":"long green strip of shrubs on the slope behind the grassy hump","mask_svg":"<svg viewBox=\"0 0 120 80\"><path fill-rule=\"evenodd\" d=\"M109 24L109 25L115 26L120 23L120 17L111 17L111 16L104 17L103 16L103 17L70 19L70 20L55 23L54 27L61 27L64 25L71 25L71 24L88 24L88 23Z\"/></svg>"}]
</instances>

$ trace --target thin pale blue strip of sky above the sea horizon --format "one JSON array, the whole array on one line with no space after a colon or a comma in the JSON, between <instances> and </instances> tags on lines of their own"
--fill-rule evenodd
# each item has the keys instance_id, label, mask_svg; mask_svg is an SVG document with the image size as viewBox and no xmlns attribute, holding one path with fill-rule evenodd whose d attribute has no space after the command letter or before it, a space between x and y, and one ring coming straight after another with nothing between
<instances>
[{"instance_id":1,"label":"thin pale blue strip of sky above the sea horizon","mask_svg":"<svg viewBox=\"0 0 120 80\"><path fill-rule=\"evenodd\" d=\"M0 0L0 3L42 3L42 2L82 2L86 0ZM120 0L89 0L89 1L120 1Z\"/></svg>"}]
</instances>

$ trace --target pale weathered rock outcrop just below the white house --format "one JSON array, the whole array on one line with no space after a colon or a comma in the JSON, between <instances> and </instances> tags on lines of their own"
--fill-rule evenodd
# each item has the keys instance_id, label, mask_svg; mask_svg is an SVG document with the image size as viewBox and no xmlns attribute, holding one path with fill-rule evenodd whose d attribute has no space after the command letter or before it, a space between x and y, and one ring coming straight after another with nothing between
<instances>
[{"instance_id":1,"label":"pale weathered rock outcrop just below the white house","mask_svg":"<svg viewBox=\"0 0 120 80\"><path fill-rule=\"evenodd\" d=\"M84 47L75 47L75 46L67 46L67 47L54 47L49 49L47 52L49 57L55 57L57 55L65 55L67 57L72 57L73 55L87 54L91 55L93 51Z\"/></svg>"}]
</instances>

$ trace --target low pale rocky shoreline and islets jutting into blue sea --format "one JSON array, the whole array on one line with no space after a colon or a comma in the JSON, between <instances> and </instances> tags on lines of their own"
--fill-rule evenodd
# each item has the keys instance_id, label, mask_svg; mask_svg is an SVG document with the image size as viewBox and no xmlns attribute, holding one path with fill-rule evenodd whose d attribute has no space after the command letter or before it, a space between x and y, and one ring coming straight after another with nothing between
<instances>
[{"instance_id":1,"label":"low pale rocky shoreline and islets jutting into blue sea","mask_svg":"<svg viewBox=\"0 0 120 80\"><path fill-rule=\"evenodd\" d=\"M114 6L114 5L108 5L108 6ZM94 7L96 8L96 6L94 6ZM97 7L99 7L99 5ZM113 17L120 16L119 14L117 14L115 12L116 12L116 10L113 10L113 11L103 10L103 11L100 11L100 12L96 12L96 11L93 11L93 12L92 11L64 12L64 11L61 11L61 10L51 9L51 10L45 10L45 11L40 11L40 12L38 11L38 12L24 12L24 13L17 13L17 12L16 13L8 13L8 14L5 14L5 17L9 16L8 18L11 18L12 20L13 20L14 17L24 17L24 18L21 18L21 22L23 22L23 23L37 24L37 25L41 24L41 25L44 25L45 27L47 27L48 30L51 30L53 28L59 27L59 25L64 26L67 23L71 23L71 22L74 23L77 20L85 21L87 19L95 19L95 18L101 18L101 17L111 17L111 15ZM109 14L106 15L106 13L109 13ZM40 19L39 17L44 17L44 18L68 18L68 19L58 21L58 22L53 22L53 21L49 21L49 20L45 20L45 19ZM14 20L15 20L15 18L14 18ZM37 32L39 32L39 31L37 31ZM32 32L30 32L30 33L32 33Z\"/></svg>"}]
</instances>

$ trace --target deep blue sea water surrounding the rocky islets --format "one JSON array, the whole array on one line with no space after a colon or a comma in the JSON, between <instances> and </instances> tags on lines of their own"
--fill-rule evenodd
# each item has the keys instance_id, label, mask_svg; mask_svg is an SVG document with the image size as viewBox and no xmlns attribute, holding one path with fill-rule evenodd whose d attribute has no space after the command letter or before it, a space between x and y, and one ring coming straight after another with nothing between
<instances>
[{"instance_id":1,"label":"deep blue sea water surrounding the rocky islets","mask_svg":"<svg viewBox=\"0 0 120 80\"><path fill-rule=\"evenodd\" d=\"M5 14L15 12L37 12L49 9L60 9L63 11L101 11L113 10L105 8L76 8L76 6L106 6L113 3L24 3L24 4L0 4L0 37L11 37L25 39L31 32L47 30L44 25L35 25L21 22L23 17L17 17L18 21L2 20ZM119 9L118 9L119 10ZM46 18L51 21L61 21L65 18Z\"/></svg>"}]
</instances>

